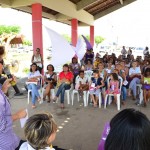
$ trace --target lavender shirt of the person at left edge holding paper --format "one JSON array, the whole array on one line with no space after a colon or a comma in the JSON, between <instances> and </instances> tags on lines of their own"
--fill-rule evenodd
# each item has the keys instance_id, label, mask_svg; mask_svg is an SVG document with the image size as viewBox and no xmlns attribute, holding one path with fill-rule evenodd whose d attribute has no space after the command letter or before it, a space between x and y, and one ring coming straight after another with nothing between
<instances>
[{"instance_id":1,"label":"lavender shirt of the person at left edge holding paper","mask_svg":"<svg viewBox=\"0 0 150 150\"><path fill-rule=\"evenodd\" d=\"M19 142L20 139L12 128L10 104L0 90L0 150L15 150Z\"/></svg>"}]
</instances>

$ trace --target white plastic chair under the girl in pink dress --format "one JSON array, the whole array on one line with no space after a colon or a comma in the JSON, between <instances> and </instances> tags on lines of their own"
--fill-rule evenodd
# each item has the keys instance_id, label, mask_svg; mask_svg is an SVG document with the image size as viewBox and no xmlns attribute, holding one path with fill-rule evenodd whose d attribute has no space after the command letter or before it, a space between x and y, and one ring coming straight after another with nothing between
<instances>
[{"instance_id":1,"label":"white plastic chair under the girl in pink dress","mask_svg":"<svg viewBox=\"0 0 150 150\"><path fill-rule=\"evenodd\" d=\"M119 78L119 86L120 86L120 93L121 93L121 87L122 87L122 78L120 76L118 76ZM110 82L110 77L107 79L107 85L108 83ZM109 97L108 97L109 96ZM109 98L109 101L108 101L108 104L110 105L111 103L111 96L114 96L114 94L107 94L106 97L105 97L105 102L104 102L104 108L106 109L106 104L107 104L107 98ZM117 94L117 109L118 111L120 110L120 94Z\"/></svg>"}]
</instances>

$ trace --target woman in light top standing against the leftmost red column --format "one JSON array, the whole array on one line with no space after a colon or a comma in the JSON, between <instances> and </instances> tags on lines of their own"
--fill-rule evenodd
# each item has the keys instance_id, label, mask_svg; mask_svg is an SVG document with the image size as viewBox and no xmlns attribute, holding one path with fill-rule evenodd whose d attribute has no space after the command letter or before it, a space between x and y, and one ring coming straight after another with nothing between
<instances>
[{"instance_id":1,"label":"woman in light top standing against the leftmost red column","mask_svg":"<svg viewBox=\"0 0 150 150\"><path fill-rule=\"evenodd\" d=\"M40 54L40 48L36 49L35 54L33 54L32 59L31 59L32 63L36 63L38 66L38 70L40 73L42 73L42 69L43 69L43 58L42 55Z\"/></svg>"}]
</instances>

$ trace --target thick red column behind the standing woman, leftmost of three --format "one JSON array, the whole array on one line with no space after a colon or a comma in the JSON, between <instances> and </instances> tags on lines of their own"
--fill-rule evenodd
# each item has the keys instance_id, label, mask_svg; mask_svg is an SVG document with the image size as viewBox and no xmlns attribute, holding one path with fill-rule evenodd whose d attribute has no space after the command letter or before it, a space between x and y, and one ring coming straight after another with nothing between
<instances>
[{"instance_id":1,"label":"thick red column behind the standing woman, leftmost of three","mask_svg":"<svg viewBox=\"0 0 150 150\"><path fill-rule=\"evenodd\" d=\"M37 3L32 5L32 35L33 50L40 48L43 56L43 35L42 35L42 5Z\"/></svg>"}]
</instances>

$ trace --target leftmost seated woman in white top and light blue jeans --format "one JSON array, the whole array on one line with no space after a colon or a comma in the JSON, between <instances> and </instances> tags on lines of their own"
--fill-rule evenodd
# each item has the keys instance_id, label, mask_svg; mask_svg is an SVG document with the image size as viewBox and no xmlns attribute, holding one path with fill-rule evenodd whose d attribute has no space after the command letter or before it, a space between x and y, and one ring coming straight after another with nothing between
<instances>
[{"instance_id":1,"label":"leftmost seated woman in white top and light blue jeans","mask_svg":"<svg viewBox=\"0 0 150 150\"><path fill-rule=\"evenodd\" d=\"M38 102L41 101L41 97L38 92L38 89L40 89L40 78L41 78L41 74L37 70L37 65L36 63L33 63L31 65L30 72L28 74L28 81L27 81L29 83L27 88L32 92L32 108L36 108L35 106L36 98Z\"/></svg>"}]
</instances>

